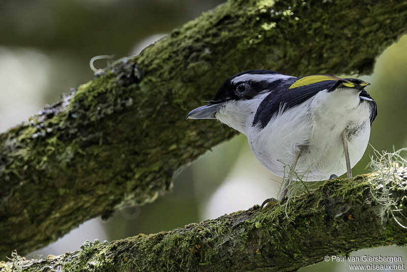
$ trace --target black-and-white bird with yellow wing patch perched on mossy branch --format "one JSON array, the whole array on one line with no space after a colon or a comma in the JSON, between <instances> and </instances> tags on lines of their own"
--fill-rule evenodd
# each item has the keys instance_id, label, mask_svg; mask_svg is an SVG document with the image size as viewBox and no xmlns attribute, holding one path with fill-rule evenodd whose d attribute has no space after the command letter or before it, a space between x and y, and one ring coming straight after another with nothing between
<instances>
[{"instance_id":1,"label":"black-and-white bird with yellow wing patch perched on mossy branch","mask_svg":"<svg viewBox=\"0 0 407 272\"><path fill-rule=\"evenodd\" d=\"M245 134L260 164L279 177L287 175L289 166L306 173L305 181L344 173L352 178L377 116L377 104L365 90L368 85L329 74L296 77L249 70L226 79L215 98L186 119L217 119ZM286 179L279 200L296 179L292 174Z\"/></svg>"}]
</instances>

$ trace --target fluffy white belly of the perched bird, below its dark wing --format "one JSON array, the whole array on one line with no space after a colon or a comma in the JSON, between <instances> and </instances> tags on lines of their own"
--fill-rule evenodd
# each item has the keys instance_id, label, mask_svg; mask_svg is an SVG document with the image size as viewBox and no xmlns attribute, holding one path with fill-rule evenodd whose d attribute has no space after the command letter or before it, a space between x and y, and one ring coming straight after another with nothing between
<instances>
[{"instance_id":1,"label":"fluffy white belly of the perched bird, below its dark wing","mask_svg":"<svg viewBox=\"0 0 407 272\"><path fill-rule=\"evenodd\" d=\"M351 167L362 158L369 141L369 116L369 104L360 102L353 89L320 92L273 118L264 129L252 127L247 138L253 154L273 174L283 177L284 166L292 165L302 147L296 172L307 181L325 180L346 173L343 129L350 131Z\"/></svg>"}]
</instances>

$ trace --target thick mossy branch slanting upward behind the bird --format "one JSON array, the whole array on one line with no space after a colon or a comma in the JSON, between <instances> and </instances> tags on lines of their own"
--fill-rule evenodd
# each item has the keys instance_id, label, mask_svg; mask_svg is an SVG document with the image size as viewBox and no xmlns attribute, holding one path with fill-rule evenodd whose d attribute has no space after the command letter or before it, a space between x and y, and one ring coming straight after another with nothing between
<instances>
[{"instance_id":1,"label":"thick mossy branch slanting upward behind the bird","mask_svg":"<svg viewBox=\"0 0 407 272\"><path fill-rule=\"evenodd\" d=\"M230 0L110 67L0 134L0 257L167 192L174 171L235 135L185 121L228 76L368 74L405 18L405 1Z\"/></svg>"}]
</instances>

